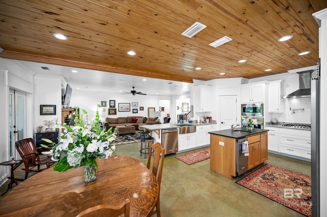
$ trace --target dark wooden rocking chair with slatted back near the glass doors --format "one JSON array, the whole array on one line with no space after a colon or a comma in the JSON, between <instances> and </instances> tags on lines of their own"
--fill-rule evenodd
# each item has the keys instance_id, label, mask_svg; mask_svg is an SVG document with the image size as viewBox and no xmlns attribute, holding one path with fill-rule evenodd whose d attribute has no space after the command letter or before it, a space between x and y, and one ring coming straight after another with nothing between
<instances>
[{"instance_id":1,"label":"dark wooden rocking chair with slatted back near the glass doors","mask_svg":"<svg viewBox=\"0 0 327 217\"><path fill-rule=\"evenodd\" d=\"M40 158L32 138L17 141L16 149L21 159L24 160L25 179L27 179L29 172L41 172L50 168L51 156ZM41 165L46 165L46 168L40 169ZM35 167L37 169L34 169Z\"/></svg>"}]
</instances>

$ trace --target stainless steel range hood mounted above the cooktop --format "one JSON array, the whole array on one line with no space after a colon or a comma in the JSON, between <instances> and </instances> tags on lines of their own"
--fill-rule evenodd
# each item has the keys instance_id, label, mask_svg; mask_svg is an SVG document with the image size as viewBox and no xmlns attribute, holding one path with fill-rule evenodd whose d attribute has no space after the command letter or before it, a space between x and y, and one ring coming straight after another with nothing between
<instances>
[{"instance_id":1,"label":"stainless steel range hood mounted above the cooktop","mask_svg":"<svg viewBox=\"0 0 327 217\"><path fill-rule=\"evenodd\" d=\"M299 89L283 98L308 98L311 97L311 73L314 70L296 72L299 74Z\"/></svg>"}]
</instances>

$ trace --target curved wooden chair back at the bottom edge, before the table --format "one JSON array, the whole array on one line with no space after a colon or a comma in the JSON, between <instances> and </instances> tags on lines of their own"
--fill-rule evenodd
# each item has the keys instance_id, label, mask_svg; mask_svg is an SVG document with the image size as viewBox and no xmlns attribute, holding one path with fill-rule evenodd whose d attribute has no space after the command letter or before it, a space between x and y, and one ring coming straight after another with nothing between
<instances>
[{"instance_id":1,"label":"curved wooden chair back at the bottom edge, before the table","mask_svg":"<svg viewBox=\"0 0 327 217\"><path fill-rule=\"evenodd\" d=\"M116 206L102 204L85 209L80 212L76 217L115 217L121 214L124 214L125 217L129 216L129 199L126 199L122 204Z\"/></svg>"}]
</instances>

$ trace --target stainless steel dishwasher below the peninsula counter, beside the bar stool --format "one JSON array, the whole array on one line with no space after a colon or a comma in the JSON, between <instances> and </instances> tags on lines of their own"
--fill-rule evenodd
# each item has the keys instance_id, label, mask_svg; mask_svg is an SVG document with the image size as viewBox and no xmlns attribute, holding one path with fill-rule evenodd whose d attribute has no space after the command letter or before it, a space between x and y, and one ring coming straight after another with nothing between
<instances>
[{"instance_id":1,"label":"stainless steel dishwasher below the peninsula counter, beside the bar stool","mask_svg":"<svg viewBox=\"0 0 327 217\"><path fill-rule=\"evenodd\" d=\"M178 130L167 128L161 130L161 145L165 149L165 155L178 151Z\"/></svg>"}]
</instances>

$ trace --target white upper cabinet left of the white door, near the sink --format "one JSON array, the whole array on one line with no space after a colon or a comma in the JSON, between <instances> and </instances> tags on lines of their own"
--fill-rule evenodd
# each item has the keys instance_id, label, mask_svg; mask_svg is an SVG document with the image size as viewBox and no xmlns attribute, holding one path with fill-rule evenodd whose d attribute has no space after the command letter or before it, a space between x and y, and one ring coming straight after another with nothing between
<instances>
[{"instance_id":1,"label":"white upper cabinet left of the white door, near the sink","mask_svg":"<svg viewBox=\"0 0 327 217\"><path fill-rule=\"evenodd\" d=\"M195 86L194 102L195 112L211 112L212 87L204 85Z\"/></svg>"}]
</instances>

